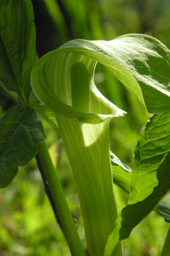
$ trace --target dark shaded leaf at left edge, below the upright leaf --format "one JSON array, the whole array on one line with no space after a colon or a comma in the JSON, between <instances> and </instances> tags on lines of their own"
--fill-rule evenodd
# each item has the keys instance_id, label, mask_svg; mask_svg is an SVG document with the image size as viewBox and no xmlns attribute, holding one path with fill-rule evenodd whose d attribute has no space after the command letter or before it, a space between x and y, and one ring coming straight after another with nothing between
<instances>
[{"instance_id":1,"label":"dark shaded leaf at left edge, below the upright leaf","mask_svg":"<svg viewBox=\"0 0 170 256\"><path fill-rule=\"evenodd\" d=\"M33 109L16 105L0 121L0 187L6 187L37 153L45 139L43 126Z\"/></svg>"}]
</instances>

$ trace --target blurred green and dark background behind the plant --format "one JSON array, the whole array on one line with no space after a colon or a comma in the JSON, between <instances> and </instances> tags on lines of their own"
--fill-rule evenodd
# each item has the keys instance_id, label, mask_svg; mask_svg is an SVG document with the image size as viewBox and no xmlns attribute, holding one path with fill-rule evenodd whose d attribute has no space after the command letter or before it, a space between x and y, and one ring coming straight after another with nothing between
<instances>
[{"instance_id":1,"label":"blurred green and dark background behind the plant","mask_svg":"<svg viewBox=\"0 0 170 256\"><path fill-rule=\"evenodd\" d=\"M38 57L74 38L110 40L128 33L155 36L170 46L169 0L32 0L32 4ZM134 95L101 65L97 65L95 81L109 100L128 113L112 120L110 133L111 149L131 166L135 144L149 116ZM0 90L0 103L3 116L13 105L3 89ZM75 182L62 140L46 121L41 121L67 202L86 247ZM120 188L115 187L115 190L120 211L128 195ZM163 218L152 212L123 242L124 255L160 255L167 228ZM20 168L12 183L0 191L0 255L70 256L44 192L35 159Z\"/></svg>"}]
</instances>

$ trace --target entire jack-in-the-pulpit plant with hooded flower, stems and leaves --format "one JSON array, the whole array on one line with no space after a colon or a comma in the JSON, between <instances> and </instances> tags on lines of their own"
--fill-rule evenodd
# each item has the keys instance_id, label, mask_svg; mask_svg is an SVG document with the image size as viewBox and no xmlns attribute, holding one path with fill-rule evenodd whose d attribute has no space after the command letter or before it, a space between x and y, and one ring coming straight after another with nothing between
<instances>
[{"instance_id":1,"label":"entire jack-in-the-pulpit plant with hooded flower, stems and leaves","mask_svg":"<svg viewBox=\"0 0 170 256\"><path fill-rule=\"evenodd\" d=\"M0 121L0 187L7 186L18 167L38 153L39 169L71 255L85 255L44 142L43 125L36 118L35 111L39 112L63 139L77 185L88 253L122 256L123 239L152 210L170 222L169 207L158 204L170 188L170 52L157 39L140 34L112 41L75 39L35 65L31 1L0 2L0 81L19 98ZM97 62L153 114L137 142L132 170L110 152L109 122L126 112L97 89ZM128 205L119 214L113 180L129 193ZM169 236L170 232L162 256L169 253Z\"/></svg>"}]
</instances>

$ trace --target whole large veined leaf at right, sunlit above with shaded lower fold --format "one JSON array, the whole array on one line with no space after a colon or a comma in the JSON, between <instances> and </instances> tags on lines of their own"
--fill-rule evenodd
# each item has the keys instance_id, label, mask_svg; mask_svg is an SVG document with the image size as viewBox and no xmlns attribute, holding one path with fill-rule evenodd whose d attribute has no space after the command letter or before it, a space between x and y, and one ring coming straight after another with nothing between
<instances>
[{"instance_id":1,"label":"whole large veined leaf at right, sunlit above with shaded lower fold","mask_svg":"<svg viewBox=\"0 0 170 256\"><path fill-rule=\"evenodd\" d=\"M105 255L127 238L170 188L170 112L155 114L140 135L132 165L128 205L118 215Z\"/></svg>"}]
</instances>

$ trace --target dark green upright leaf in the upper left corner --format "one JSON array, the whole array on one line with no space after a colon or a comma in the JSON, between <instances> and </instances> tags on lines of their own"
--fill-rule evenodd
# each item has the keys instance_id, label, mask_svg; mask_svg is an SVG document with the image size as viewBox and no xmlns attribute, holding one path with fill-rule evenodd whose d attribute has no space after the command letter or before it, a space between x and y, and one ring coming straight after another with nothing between
<instances>
[{"instance_id":1,"label":"dark green upright leaf in the upper left corner","mask_svg":"<svg viewBox=\"0 0 170 256\"><path fill-rule=\"evenodd\" d=\"M35 65L35 26L30 0L0 0L0 80L28 101Z\"/></svg>"}]
</instances>

